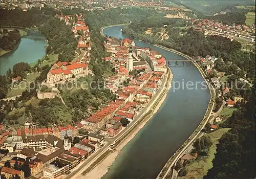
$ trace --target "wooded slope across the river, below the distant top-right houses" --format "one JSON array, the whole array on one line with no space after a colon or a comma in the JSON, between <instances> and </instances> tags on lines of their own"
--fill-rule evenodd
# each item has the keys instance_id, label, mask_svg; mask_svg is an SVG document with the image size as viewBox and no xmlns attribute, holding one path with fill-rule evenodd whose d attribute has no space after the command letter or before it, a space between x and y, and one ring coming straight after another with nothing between
<instances>
[{"instance_id":1,"label":"wooded slope across the river, below the distant top-right houses","mask_svg":"<svg viewBox=\"0 0 256 179\"><path fill-rule=\"evenodd\" d=\"M166 23L166 22L165 22ZM144 18L123 28L126 36L141 39L149 43L160 44L164 47L175 49L191 57L211 55L223 58L225 62L233 62L242 70L246 71L248 78L254 81L255 77L255 53L241 51L241 43L230 41L221 36L207 36L193 29L179 29L186 21L170 19L168 26L163 27L163 23L158 17ZM152 28L152 34L146 34L145 30ZM157 33L164 29L168 39L161 39ZM243 61L241 61L243 59ZM219 65L226 68L224 72L237 74L236 68L228 68L228 65Z\"/></svg>"}]
</instances>

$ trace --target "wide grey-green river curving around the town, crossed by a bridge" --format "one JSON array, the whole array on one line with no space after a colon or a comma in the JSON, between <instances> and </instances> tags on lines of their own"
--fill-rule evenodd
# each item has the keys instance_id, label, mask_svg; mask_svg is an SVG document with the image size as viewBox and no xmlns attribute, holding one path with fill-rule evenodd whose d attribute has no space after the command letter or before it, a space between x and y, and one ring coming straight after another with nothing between
<instances>
[{"instance_id":1,"label":"wide grey-green river curving around the town, crossed by a bridge","mask_svg":"<svg viewBox=\"0 0 256 179\"><path fill-rule=\"evenodd\" d=\"M122 26L105 28L103 33L124 38ZM136 46L159 51L166 59L183 59L175 53L135 40ZM194 132L204 117L210 100L209 90L178 88L186 84L204 82L194 65L171 64L174 78L164 103L153 118L121 150L104 178L156 178L162 167L182 143Z\"/></svg>"}]
</instances>

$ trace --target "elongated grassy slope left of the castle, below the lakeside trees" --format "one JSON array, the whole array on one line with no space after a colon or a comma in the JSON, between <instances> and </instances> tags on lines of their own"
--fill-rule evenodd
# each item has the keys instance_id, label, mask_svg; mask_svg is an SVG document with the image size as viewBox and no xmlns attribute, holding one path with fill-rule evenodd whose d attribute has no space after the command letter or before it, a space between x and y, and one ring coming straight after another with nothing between
<instances>
[{"instance_id":1,"label":"elongated grassy slope left of the castle, below the lakeside trees","mask_svg":"<svg viewBox=\"0 0 256 179\"><path fill-rule=\"evenodd\" d=\"M20 82L18 85L14 86L6 95L6 98L21 95L29 87L29 82L34 81L40 73L31 73L27 76L26 81Z\"/></svg>"}]
</instances>

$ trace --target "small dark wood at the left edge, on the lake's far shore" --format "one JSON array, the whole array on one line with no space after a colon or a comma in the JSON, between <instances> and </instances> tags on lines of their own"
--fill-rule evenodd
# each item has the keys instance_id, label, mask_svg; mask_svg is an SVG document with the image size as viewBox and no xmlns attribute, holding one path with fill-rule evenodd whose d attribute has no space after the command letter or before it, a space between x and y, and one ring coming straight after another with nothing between
<instances>
[{"instance_id":1,"label":"small dark wood at the left edge, on the lake's far shore","mask_svg":"<svg viewBox=\"0 0 256 179\"><path fill-rule=\"evenodd\" d=\"M21 38L22 36L20 35L18 29L14 29L9 32L7 30L7 35L3 35L0 39L0 47L6 51L13 50L14 46L19 42Z\"/></svg>"}]
</instances>

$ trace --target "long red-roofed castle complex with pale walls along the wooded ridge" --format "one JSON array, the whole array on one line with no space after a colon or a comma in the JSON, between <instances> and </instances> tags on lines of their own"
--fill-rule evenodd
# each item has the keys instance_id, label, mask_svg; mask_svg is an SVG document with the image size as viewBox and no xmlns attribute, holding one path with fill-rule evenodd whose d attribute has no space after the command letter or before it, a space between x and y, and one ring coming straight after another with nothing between
<instances>
[{"instance_id":1,"label":"long red-roofed castle complex with pale walls along the wooded ridge","mask_svg":"<svg viewBox=\"0 0 256 179\"><path fill-rule=\"evenodd\" d=\"M91 41L89 28L84 23L83 17L77 15L75 17L68 15L57 15L60 20L65 20L65 23L71 23L71 19L77 18L73 21L71 31L75 37L78 37L77 49L75 54L80 57L75 62L61 62L53 64L47 74L47 79L43 82L48 87L54 87L58 83L66 83L67 81L78 79L80 77L88 76L88 63L90 62ZM67 25L68 25L67 24Z\"/></svg>"}]
</instances>

